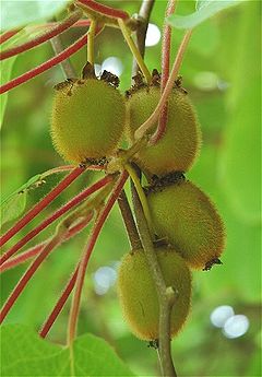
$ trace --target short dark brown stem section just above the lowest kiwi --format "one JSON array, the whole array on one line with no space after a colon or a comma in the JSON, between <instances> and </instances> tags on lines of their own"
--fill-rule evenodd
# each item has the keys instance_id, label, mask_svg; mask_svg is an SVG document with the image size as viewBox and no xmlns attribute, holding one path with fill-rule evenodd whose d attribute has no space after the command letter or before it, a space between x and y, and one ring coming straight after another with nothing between
<instances>
[{"instance_id":1,"label":"short dark brown stem section just above the lowest kiwi","mask_svg":"<svg viewBox=\"0 0 262 377\"><path fill-rule=\"evenodd\" d=\"M118 198L118 205L121 211L131 249L141 249L142 245L140 241L139 233L124 190L121 191Z\"/></svg>"}]
</instances>

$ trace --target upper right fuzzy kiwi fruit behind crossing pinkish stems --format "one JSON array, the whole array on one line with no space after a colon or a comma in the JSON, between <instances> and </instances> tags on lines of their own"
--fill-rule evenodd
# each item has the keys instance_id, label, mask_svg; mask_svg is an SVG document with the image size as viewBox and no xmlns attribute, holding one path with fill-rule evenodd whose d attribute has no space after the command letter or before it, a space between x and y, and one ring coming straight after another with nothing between
<instances>
[{"instance_id":1,"label":"upper right fuzzy kiwi fruit behind crossing pinkish stems","mask_svg":"<svg viewBox=\"0 0 262 377\"><path fill-rule=\"evenodd\" d=\"M128 139L133 141L136 129L152 115L160 98L159 85L131 92L127 101ZM156 129L153 128L153 131ZM166 132L155 144L135 156L135 163L147 174L164 176L187 172L199 154L201 131L194 108L186 91L175 87L168 99Z\"/></svg>"}]
</instances>

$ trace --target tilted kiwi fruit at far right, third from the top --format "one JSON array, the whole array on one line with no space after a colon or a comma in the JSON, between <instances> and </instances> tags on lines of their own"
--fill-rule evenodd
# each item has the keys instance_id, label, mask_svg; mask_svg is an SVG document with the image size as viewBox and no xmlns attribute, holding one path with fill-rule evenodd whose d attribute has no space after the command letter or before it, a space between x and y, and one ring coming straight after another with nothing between
<instances>
[{"instance_id":1,"label":"tilted kiwi fruit at far right, third from the top","mask_svg":"<svg viewBox=\"0 0 262 377\"><path fill-rule=\"evenodd\" d=\"M147 202L157 236L167 238L191 268L209 270L221 264L224 224L202 190L181 180L150 191Z\"/></svg>"}]
</instances>

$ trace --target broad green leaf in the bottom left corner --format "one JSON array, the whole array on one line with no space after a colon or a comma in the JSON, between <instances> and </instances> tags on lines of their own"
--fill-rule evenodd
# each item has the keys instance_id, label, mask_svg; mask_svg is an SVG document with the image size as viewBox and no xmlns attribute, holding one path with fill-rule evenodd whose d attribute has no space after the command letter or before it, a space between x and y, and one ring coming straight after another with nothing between
<instances>
[{"instance_id":1,"label":"broad green leaf in the bottom left corner","mask_svg":"<svg viewBox=\"0 0 262 377\"><path fill-rule=\"evenodd\" d=\"M70 352L27 327L5 325L1 344L3 376L134 376L111 346L93 334L78 338Z\"/></svg>"}]
</instances>

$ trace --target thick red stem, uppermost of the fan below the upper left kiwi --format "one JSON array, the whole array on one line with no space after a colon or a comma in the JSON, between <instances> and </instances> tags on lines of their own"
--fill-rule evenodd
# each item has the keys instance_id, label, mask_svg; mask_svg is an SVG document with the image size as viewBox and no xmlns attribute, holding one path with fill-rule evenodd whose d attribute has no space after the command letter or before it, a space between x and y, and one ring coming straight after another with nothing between
<instances>
[{"instance_id":1,"label":"thick red stem, uppermost of the fan below the upper left kiwi","mask_svg":"<svg viewBox=\"0 0 262 377\"><path fill-rule=\"evenodd\" d=\"M33 209L31 209L14 226L0 237L0 246L3 246L19 231L27 225L41 210L44 210L55 198L57 198L66 188L69 187L83 172L85 167L75 167L58 186L56 186L44 199L41 199ZM1 264L1 263L0 263Z\"/></svg>"}]
</instances>

